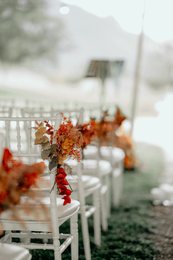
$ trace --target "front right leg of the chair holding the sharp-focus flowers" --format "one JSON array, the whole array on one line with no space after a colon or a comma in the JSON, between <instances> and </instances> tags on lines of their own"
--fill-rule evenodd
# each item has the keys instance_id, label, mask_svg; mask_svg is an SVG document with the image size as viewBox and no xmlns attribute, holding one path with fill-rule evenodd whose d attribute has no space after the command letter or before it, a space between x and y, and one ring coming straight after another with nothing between
<instances>
[{"instance_id":1,"label":"front right leg of the chair holding the sharp-focus flowers","mask_svg":"<svg viewBox=\"0 0 173 260\"><path fill-rule=\"evenodd\" d=\"M78 212L70 218L70 234L74 236L71 242L71 260L79 259L79 242L78 242Z\"/></svg>"}]
</instances>

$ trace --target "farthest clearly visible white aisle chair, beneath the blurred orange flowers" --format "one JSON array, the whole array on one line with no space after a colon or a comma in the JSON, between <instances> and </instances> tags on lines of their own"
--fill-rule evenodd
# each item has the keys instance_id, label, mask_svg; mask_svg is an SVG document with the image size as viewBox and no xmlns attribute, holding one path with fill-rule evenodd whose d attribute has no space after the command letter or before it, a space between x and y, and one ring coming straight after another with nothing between
<instances>
[{"instance_id":1,"label":"farthest clearly visible white aisle chair, beneath the blurred orange flowers","mask_svg":"<svg viewBox=\"0 0 173 260\"><path fill-rule=\"evenodd\" d=\"M78 106L77 106L78 105ZM85 104L80 104L85 105ZM75 104L76 107L80 107L79 104ZM112 109L112 111L111 111ZM115 113L117 107L110 106L109 112L112 112L112 114ZM95 109L90 109L87 107L85 109L84 117L89 121L90 118L99 119L102 115L103 109L101 107L97 107ZM88 113L87 113L88 112ZM89 115L89 118L87 117ZM94 142L93 142L94 144ZM103 160L107 161L106 164L111 163L113 170L111 172L106 171L108 175L106 175L105 180L103 181L103 184L107 184L107 186L110 186L110 179L112 183L112 200L113 205L115 207L119 206L120 199L122 197L123 193L123 173L124 173L124 166L123 166L123 160L125 158L125 153L121 148L118 147L110 147L110 146L99 146L99 142L96 142L96 145L89 145L84 151L83 151L84 159L95 159L99 162L100 166L103 164ZM89 161L88 161L89 163ZM88 164L87 163L87 164ZM96 161L91 162L96 167ZM97 164L97 167L99 168L99 163ZM107 169L110 168L107 165ZM97 170L98 172L98 170ZM87 172L85 172L87 174ZM111 175L111 176L109 176ZM107 216L110 217L110 209L111 209L111 199L110 199L110 189L107 191ZM103 200L102 200L103 202ZM103 213L104 214L104 213ZM104 218L103 218L104 219ZM105 222L106 223L106 222ZM104 224L103 224L104 225Z\"/></svg>"}]
</instances>

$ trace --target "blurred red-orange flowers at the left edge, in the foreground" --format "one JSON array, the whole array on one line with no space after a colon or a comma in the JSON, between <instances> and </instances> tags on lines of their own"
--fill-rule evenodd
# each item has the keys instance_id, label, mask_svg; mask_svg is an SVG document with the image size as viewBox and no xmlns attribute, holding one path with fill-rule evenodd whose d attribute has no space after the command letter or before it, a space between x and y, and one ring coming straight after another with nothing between
<instances>
[{"instance_id":1,"label":"blurred red-orange flowers at the left edge, in the foreground","mask_svg":"<svg viewBox=\"0 0 173 260\"><path fill-rule=\"evenodd\" d=\"M44 162L23 164L21 160L14 160L8 149L4 149L0 166L0 213L18 204L20 196L29 192L44 169Z\"/></svg>"}]
</instances>

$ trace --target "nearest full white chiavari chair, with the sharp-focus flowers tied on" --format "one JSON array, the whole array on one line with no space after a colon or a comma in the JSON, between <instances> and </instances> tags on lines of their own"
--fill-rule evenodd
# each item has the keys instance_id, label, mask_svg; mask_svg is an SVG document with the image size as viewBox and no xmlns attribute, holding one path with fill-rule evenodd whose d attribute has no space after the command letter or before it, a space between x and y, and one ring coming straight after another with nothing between
<instances>
[{"instance_id":1,"label":"nearest full white chiavari chair, with the sharp-focus flowers tied on","mask_svg":"<svg viewBox=\"0 0 173 260\"><path fill-rule=\"evenodd\" d=\"M32 126L32 122L35 120L44 121L54 120L55 129L59 128L62 116L60 113L56 114L55 117L37 117L37 118L7 118L0 117L0 121L5 122L5 132L6 132L6 147L11 149L14 157L40 157L41 156L41 146L39 146L39 151L32 153L32 136L31 129L28 130L27 135L27 149L21 147L20 142L20 123L27 121L29 128ZM10 145L10 135L8 121L16 122L17 130L17 144L15 150L14 147ZM26 145L26 144L25 144ZM16 151L17 150L17 151ZM50 187L53 187L55 181L56 168L52 169L50 172ZM44 205L41 206L38 204ZM24 211L24 207L28 207L28 211ZM57 190L54 187L50 193L50 197L40 197L39 200L32 200L29 197L21 197L20 204L15 206L15 214L17 219L14 219L13 214L10 210L3 211L0 215L1 229L6 231L8 234L8 239L6 243L12 243L12 238L53 238L53 244L36 244L36 243L17 243L19 246L27 249L43 249L43 250L54 250L55 260L61 260L61 254L71 244L71 259L78 259L78 210L80 203L77 200L71 200L71 204L63 206L63 200L57 198ZM38 213L34 214L34 213ZM59 227L67 219L70 219L70 234L59 233ZM13 233L11 230L23 230L20 233ZM24 232L25 231L25 232ZM28 232L32 231L32 232ZM65 239L65 241L60 245L59 239Z\"/></svg>"}]
</instances>

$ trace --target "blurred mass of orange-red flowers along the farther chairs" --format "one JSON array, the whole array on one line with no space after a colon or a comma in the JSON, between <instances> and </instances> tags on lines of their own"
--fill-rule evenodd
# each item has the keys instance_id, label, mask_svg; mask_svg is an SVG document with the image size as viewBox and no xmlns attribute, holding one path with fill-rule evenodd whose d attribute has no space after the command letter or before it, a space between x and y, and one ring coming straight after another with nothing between
<instances>
[{"instance_id":1,"label":"blurred mass of orange-red flowers along the farther chairs","mask_svg":"<svg viewBox=\"0 0 173 260\"><path fill-rule=\"evenodd\" d=\"M80 125L79 127L89 143L91 142L91 144L99 146L110 145L123 149L126 154L124 167L133 169L137 161L133 154L132 141L120 133L121 124L125 119L126 117L120 112L120 109L117 108L115 116L109 116L106 111L100 122L91 120L89 123ZM96 140L98 140L99 144L96 144Z\"/></svg>"}]
</instances>

